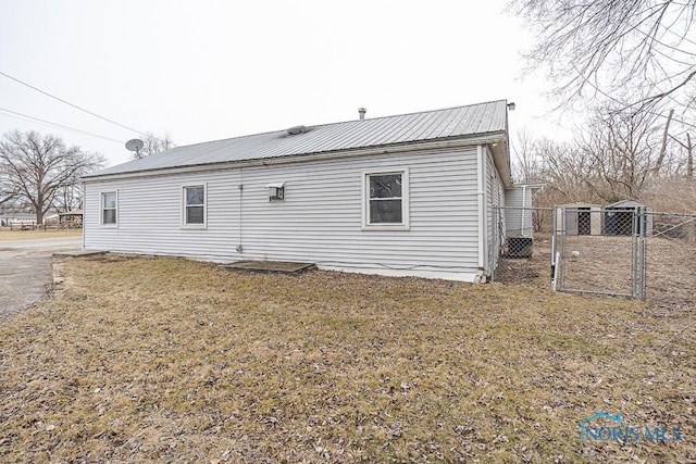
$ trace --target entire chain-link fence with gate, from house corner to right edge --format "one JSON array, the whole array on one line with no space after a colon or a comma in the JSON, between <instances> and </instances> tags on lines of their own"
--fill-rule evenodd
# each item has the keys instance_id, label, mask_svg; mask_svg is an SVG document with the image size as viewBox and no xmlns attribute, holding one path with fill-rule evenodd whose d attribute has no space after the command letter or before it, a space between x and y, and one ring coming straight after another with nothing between
<instances>
[{"instance_id":1,"label":"entire chain-link fence with gate, from house corner to right edge","mask_svg":"<svg viewBox=\"0 0 696 464\"><path fill-rule=\"evenodd\" d=\"M572 205L494 208L492 217L494 281L696 308L696 214Z\"/></svg>"}]
</instances>

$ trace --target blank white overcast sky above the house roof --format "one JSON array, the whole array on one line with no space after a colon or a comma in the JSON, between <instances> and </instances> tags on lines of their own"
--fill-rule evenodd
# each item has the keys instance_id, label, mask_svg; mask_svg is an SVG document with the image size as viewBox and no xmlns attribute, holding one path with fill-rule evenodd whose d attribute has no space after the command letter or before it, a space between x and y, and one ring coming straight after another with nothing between
<instances>
[{"instance_id":1,"label":"blank white overcast sky above the house roof","mask_svg":"<svg viewBox=\"0 0 696 464\"><path fill-rule=\"evenodd\" d=\"M0 0L0 134L54 134L115 165L142 133L185 146L507 99L512 143L563 137L505 4Z\"/></svg>"}]
</instances>

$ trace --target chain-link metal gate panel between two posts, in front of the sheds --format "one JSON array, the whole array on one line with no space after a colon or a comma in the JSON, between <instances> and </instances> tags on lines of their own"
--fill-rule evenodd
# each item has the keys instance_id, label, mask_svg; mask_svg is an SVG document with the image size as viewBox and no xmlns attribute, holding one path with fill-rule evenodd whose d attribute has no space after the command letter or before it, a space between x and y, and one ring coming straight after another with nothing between
<instances>
[{"instance_id":1,"label":"chain-link metal gate panel between two posts, in front of the sheds","mask_svg":"<svg viewBox=\"0 0 696 464\"><path fill-rule=\"evenodd\" d=\"M644 300L647 226L644 208L557 208L551 289Z\"/></svg>"}]
</instances>

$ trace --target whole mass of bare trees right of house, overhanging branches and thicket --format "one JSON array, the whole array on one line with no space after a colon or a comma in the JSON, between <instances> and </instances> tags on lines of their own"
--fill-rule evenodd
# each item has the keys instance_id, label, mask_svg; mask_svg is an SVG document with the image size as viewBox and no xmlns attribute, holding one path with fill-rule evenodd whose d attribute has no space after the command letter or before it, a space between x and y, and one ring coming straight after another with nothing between
<instances>
[{"instance_id":1,"label":"whole mass of bare trees right of house, overhanging branches and thicket","mask_svg":"<svg viewBox=\"0 0 696 464\"><path fill-rule=\"evenodd\" d=\"M557 110L585 124L572 142L518 134L515 178L538 205L641 200L696 212L696 1L511 0L535 35Z\"/></svg>"}]
</instances>

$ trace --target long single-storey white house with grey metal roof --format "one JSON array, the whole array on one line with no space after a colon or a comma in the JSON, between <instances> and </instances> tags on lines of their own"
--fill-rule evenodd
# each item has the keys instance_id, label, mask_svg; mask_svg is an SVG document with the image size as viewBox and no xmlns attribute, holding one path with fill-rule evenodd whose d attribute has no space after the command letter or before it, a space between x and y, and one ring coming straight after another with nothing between
<instances>
[{"instance_id":1,"label":"long single-storey white house with grey metal roof","mask_svg":"<svg viewBox=\"0 0 696 464\"><path fill-rule=\"evenodd\" d=\"M83 180L86 250L485 281L508 104L177 147Z\"/></svg>"}]
</instances>

